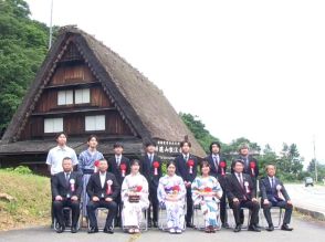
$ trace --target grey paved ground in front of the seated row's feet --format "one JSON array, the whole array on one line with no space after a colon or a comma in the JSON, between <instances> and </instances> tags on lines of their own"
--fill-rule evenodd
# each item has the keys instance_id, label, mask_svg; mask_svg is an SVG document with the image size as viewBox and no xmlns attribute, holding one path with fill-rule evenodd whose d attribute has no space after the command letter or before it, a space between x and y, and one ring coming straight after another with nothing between
<instances>
[{"instance_id":1,"label":"grey paved ground in front of the seated row's feet","mask_svg":"<svg viewBox=\"0 0 325 242\"><path fill-rule=\"evenodd\" d=\"M167 232L160 232L158 230L150 230L144 232L140 235L128 235L120 232L118 229L112 234L96 233L87 234L86 231L80 231L76 234L65 232L57 234L49 228L34 228L29 230L17 230L0 233L0 241L19 241L19 242L52 242L52 241L107 241L114 242L141 242L141 241L154 241L154 242L167 242L177 240L177 242L191 242L191 241L205 241L205 242L233 242L238 241L285 241L285 242L297 242L297 241L313 241L324 242L325 241L325 223L319 221L313 221L310 219L302 218L295 214L292 221L294 231L286 232L275 230L273 232L262 231L261 233L242 231L240 233L233 233L231 230L221 230L216 234L207 234L203 232L187 230L184 234L171 235Z\"/></svg>"}]
</instances>

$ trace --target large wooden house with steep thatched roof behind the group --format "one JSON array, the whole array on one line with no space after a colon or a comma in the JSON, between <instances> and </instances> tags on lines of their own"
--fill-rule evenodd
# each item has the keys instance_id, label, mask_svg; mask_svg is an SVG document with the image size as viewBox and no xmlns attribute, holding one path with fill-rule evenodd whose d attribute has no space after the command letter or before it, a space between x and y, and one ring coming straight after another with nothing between
<instances>
[{"instance_id":1,"label":"large wooden house with steep thatched roof behind the group","mask_svg":"<svg viewBox=\"0 0 325 242\"><path fill-rule=\"evenodd\" d=\"M97 118L97 119L96 119ZM205 151L162 92L118 54L84 31L65 27L40 67L0 143L0 157L45 156L54 133L69 134L81 151L90 134L101 137L98 149L112 152L116 140L139 155L143 141L192 143Z\"/></svg>"}]
</instances>

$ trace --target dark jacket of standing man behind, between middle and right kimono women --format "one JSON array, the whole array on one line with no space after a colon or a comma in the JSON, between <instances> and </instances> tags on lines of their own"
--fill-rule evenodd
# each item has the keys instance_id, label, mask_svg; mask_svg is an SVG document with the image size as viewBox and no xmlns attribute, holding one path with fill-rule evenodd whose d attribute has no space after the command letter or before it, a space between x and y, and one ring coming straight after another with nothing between
<instances>
[{"instance_id":1,"label":"dark jacket of standing man behind, between middle and right kimono women","mask_svg":"<svg viewBox=\"0 0 325 242\"><path fill-rule=\"evenodd\" d=\"M190 169L189 169L189 167L187 165L187 161L184 159L182 154L180 154L179 156L177 156L175 158L176 173L178 176L180 176L184 179L184 181L192 182L197 177L198 160L191 154L189 154L189 159L188 160L193 160L192 173L190 173Z\"/></svg>"}]
</instances>

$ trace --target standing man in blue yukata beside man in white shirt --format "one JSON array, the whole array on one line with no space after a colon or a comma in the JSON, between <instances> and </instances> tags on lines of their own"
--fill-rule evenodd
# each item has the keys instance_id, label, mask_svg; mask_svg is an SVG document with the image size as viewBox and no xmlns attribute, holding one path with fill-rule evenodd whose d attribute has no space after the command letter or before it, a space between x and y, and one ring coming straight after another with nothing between
<instances>
[{"instance_id":1,"label":"standing man in blue yukata beside man in white shirt","mask_svg":"<svg viewBox=\"0 0 325 242\"><path fill-rule=\"evenodd\" d=\"M90 197L86 192L87 183L92 173L97 172L96 161L104 159L102 152L97 151L98 138L95 135L91 135L87 139L88 148L78 155L78 170L83 173L83 215L87 217L86 206L90 201Z\"/></svg>"}]
</instances>

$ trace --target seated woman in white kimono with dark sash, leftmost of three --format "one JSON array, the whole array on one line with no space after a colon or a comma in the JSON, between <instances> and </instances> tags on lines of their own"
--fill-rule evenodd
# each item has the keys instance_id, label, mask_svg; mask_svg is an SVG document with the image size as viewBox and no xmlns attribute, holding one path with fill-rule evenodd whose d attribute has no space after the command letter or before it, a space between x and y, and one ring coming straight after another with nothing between
<instances>
[{"instance_id":1,"label":"seated woman in white kimono with dark sash, leftmost of three","mask_svg":"<svg viewBox=\"0 0 325 242\"><path fill-rule=\"evenodd\" d=\"M128 233L139 233L143 220L143 211L149 207L148 181L139 172L139 161L130 162L130 173L122 183L122 222Z\"/></svg>"}]
</instances>

